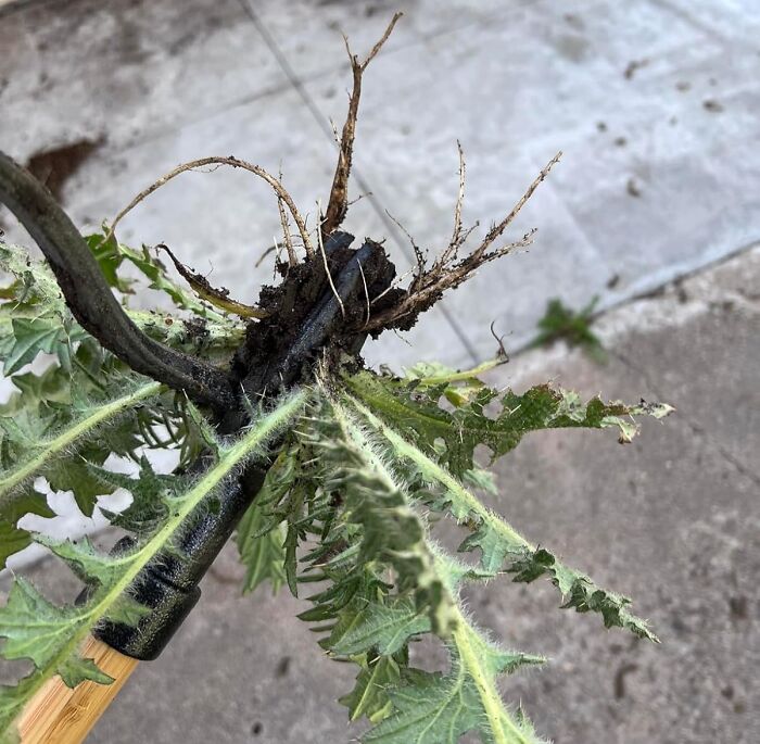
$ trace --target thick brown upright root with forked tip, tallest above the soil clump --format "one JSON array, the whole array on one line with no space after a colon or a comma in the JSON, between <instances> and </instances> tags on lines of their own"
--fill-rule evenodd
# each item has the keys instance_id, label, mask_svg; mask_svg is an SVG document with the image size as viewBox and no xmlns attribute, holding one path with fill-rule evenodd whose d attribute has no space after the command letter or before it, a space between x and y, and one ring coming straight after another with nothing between
<instances>
[{"instance_id":1,"label":"thick brown upright root with forked tip, tallest above the soil clump","mask_svg":"<svg viewBox=\"0 0 760 744\"><path fill-rule=\"evenodd\" d=\"M335 166L335 175L332 178L330 199L328 200L327 211L325 212L325 218L321 223L322 239L327 238L341 226L349 211L349 177L351 175L351 163L354 152L354 137L356 136L359 99L362 98L362 76L369 63L375 59L388 40L388 37L393 31L393 27L402 15L403 13L395 13L393 15L391 23L388 25L388 28L385 28L385 33L372 47L372 50L364 62L359 62L358 58L351 51L349 38L345 35L343 36L345 49L351 60L353 86L351 98L349 99L349 113L341 135L338 165Z\"/></svg>"}]
</instances>

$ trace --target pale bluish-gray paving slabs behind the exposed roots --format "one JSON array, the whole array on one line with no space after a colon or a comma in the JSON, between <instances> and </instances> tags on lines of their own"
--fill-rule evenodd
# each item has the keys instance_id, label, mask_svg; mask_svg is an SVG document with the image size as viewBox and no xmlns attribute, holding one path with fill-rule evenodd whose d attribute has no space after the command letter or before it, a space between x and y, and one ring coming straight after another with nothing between
<instances>
[{"instance_id":1,"label":"pale bluish-gray paving slabs behind the exposed roots","mask_svg":"<svg viewBox=\"0 0 760 744\"><path fill-rule=\"evenodd\" d=\"M372 196L347 229L388 238L406 267L411 248L385 211L423 248L445 245L457 138L474 235L565 156L507 238L537 227L534 249L447 299L414 346L389 336L372 361L479 360L492 320L515 348L549 297L608 307L760 238L753 0L20 2L0 16L0 147L26 162L96 143L61 185L84 227L208 154L281 165L314 220L350 85L340 30L363 54L398 9L365 78L352 197ZM228 172L182 176L121 230L167 242L242 300L270 277L253 263L278 234L264 185Z\"/></svg>"}]
</instances>

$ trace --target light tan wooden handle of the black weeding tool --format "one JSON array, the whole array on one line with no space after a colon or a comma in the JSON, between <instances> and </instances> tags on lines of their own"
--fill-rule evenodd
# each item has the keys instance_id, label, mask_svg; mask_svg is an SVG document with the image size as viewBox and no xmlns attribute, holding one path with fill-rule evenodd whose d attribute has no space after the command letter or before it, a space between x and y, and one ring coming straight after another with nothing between
<instances>
[{"instance_id":1,"label":"light tan wooden handle of the black weeding tool","mask_svg":"<svg viewBox=\"0 0 760 744\"><path fill-rule=\"evenodd\" d=\"M21 744L84 742L139 664L91 635L85 641L81 655L93 659L114 681L111 684L83 682L72 690L60 677L49 680L18 718Z\"/></svg>"}]
</instances>

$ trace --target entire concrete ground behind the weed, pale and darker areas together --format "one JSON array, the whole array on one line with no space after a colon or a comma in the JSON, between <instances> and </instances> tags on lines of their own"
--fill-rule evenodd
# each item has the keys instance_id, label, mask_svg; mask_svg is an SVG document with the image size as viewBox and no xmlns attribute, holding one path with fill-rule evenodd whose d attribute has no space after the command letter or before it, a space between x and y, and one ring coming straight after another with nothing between
<instances>
[{"instance_id":1,"label":"entire concrete ground behind the weed, pale and darker areas together","mask_svg":"<svg viewBox=\"0 0 760 744\"><path fill-rule=\"evenodd\" d=\"M633 595L663 639L637 643L558 611L550 588L493 583L471 597L474 615L554 658L505 693L558 743L760 741L757 2L4 3L0 148L41 167L40 153L62 148L60 193L83 227L207 154L281 163L314 214L334 162L326 122L340 125L346 104L338 29L362 53L400 5L406 17L365 77L353 193L373 197L354 205L349 229L387 236L408 265L384 210L420 244L443 244L457 137L465 216L483 228L557 150L565 156L515 226L515 237L537 226L535 247L448 298L411 345L390 336L370 360L468 364L493 353L492 320L515 350L548 298L580 305L599 294L607 366L560 344L517 355L494 382L550 377L679 408L624 449L549 432L498 465L494 506ZM8 213L0 222L26 242ZM253 263L277 231L270 194L218 172L162 189L121 237L166 241L245 300L268 278ZM33 572L66 587L50 563ZM170 651L140 666L91 741L352 737L334 703L351 670L320 658L294 618L301 603L240 598L239 579L228 551Z\"/></svg>"}]
</instances>

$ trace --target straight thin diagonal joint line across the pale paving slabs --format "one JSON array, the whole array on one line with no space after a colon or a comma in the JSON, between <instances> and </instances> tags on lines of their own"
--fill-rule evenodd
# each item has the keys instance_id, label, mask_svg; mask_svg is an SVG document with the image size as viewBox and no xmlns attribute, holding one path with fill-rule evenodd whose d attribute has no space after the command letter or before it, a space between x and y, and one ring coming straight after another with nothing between
<instances>
[{"instance_id":1,"label":"straight thin diagonal joint line across the pale paving slabs","mask_svg":"<svg viewBox=\"0 0 760 744\"><path fill-rule=\"evenodd\" d=\"M269 50L273 53L273 56L277 60L277 63L280 65L280 68L284 73L286 77L290 80L291 86L295 89L295 91L299 93L301 97L301 100L304 102L308 111L311 112L312 116L316 121L317 125L319 128L322 130L322 133L328 137L330 142L334 143L334 135L332 129L329 127L327 123L327 117L322 114L322 112L319 110L319 106L317 105L316 101L309 96L308 91L306 90L306 87L304 86L303 81L296 74L295 70L292 67L290 62L288 61L288 58L284 55L282 50L280 49L279 45L277 43L277 40L275 39L274 35L271 31L266 27L266 24L262 18L258 16L256 11L253 9L250 0L240 0L240 4L243 7L243 10L245 13L249 15L251 18L251 22L253 25L257 28L258 33L262 35L262 38L264 39L264 42L267 45ZM402 253L406 255L409 261L414 261L415 256L414 253L410 251L409 248L406 245L406 241L402 238L401 232L398 228L393 224L393 220L388 216L385 213L385 210L382 209L382 205L379 203L377 200L377 197L373 196L372 189L369 185L369 182L363 177L362 173L359 169L354 165L352 167L354 180L356 181L357 186L359 187L359 190L362 193L367 194L367 199L369 203L372 205L372 209L377 213L378 217L380 217L380 220L382 222L383 226L388 230L388 232L391 236L391 239L398 245L401 249ZM465 352L470 356L472 362L476 364L480 361L480 357L470 342L470 340L467 338L467 335L463 330L461 326L454 319L452 314L448 312L446 307L443 305L440 305L441 308L441 314L443 315L444 320L448 324L451 329L454 331L455 336L459 340L459 342L463 344L465 348Z\"/></svg>"}]
</instances>

